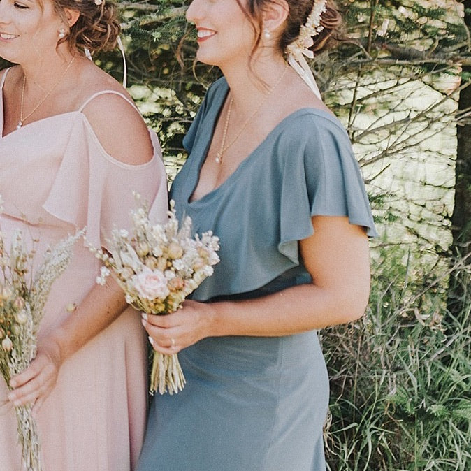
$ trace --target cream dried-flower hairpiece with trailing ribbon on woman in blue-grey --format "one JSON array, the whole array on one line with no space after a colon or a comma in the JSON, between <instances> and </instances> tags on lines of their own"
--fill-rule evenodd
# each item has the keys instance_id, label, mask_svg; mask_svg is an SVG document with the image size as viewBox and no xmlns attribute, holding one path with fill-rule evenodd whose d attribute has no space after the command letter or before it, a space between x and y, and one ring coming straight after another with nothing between
<instances>
[{"instance_id":1,"label":"cream dried-flower hairpiece with trailing ribbon on woman in blue-grey","mask_svg":"<svg viewBox=\"0 0 471 471\"><path fill-rule=\"evenodd\" d=\"M312 59L314 52L309 48L314 44L312 39L317 36L324 27L321 25L322 13L327 10L327 0L314 0L314 6L312 7L310 15L307 17L307 21L300 27L299 35L295 41L289 44L286 48L288 64L294 68L294 70L312 89L312 92L321 99L321 92L317 87L312 70L307 64L304 56Z\"/></svg>"}]
</instances>

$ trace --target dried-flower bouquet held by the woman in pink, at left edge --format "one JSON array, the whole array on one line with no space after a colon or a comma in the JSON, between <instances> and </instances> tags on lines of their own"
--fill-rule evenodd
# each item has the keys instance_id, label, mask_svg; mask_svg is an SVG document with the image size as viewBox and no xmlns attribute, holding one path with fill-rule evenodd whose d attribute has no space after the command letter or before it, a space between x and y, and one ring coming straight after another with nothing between
<instances>
[{"instance_id":1,"label":"dried-flower bouquet held by the woman in pink, at left edge","mask_svg":"<svg viewBox=\"0 0 471 471\"><path fill-rule=\"evenodd\" d=\"M0 197L0 213L1 203ZM0 232L0 374L9 390L10 379L36 356L36 334L52 283L70 263L73 244L81 236L69 236L49 249L33 275L35 251L27 249L21 231L13 234L10 247ZM41 444L31 410L31 404L15 407L18 440L24 469L41 471Z\"/></svg>"}]
</instances>

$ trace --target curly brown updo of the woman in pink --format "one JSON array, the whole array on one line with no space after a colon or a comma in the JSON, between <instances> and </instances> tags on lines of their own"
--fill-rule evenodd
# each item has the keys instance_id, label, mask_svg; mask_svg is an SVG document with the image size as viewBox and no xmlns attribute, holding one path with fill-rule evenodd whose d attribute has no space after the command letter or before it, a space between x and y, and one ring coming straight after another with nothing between
<instances>
[{"instance_id":1,"label":"curly brown updo of the woman in pink","mask_svg":"<svg viewBox=\"0 0 471 471\"><path fill-rule=\"evenodd\" d=\"M96 5L94 0L53 0L55 10L65 19L66 8L80 13L77 22L69 33L59 40L67 41L72 50L87 48L90 52L113 50L121 27L117 16L117 7L111 0L102 0Z\"/></svg>"}]
</instances>

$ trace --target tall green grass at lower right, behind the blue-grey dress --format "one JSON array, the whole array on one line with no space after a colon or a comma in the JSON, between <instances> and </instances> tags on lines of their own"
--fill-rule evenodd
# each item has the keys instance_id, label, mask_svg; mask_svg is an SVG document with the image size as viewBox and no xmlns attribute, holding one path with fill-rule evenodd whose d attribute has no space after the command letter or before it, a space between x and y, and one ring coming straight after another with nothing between
<instances>
[{"instance_id":1,"label":"tall green grass at lower right, behind the blue-grey dress","mask_svg":"<svg viewBox=\"0 0 471 471\"><path fill-rule=\"evenodd\" d=\"M471 296L459 318L445 302L468 268L420 260L379 249L365 316L321 335L331 471L471 470Z\"/></svg>"}]
</instances>

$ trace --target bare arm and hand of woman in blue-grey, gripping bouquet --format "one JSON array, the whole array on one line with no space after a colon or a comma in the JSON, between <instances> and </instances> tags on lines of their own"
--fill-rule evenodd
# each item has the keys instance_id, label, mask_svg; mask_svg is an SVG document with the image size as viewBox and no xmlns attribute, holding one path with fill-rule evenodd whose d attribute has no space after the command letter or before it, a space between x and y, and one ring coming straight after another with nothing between
<instances>
[{"instance_id":1,"label":"bare arm and hand of woman in blue-grey, gripping bouquet","mask_svg":"<svg viewBox=\"0 0 471 471\"><path fill-rule=\"evenodd\" d=\"M365 231L347 217L316 216L312 224L314 234L300 241L312 283L251 300L186 301L169 316L144 316L154 349L171 354L205 337L290 335L361 317L370 292Z\"/></svg>"}]
</instances>

